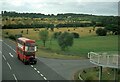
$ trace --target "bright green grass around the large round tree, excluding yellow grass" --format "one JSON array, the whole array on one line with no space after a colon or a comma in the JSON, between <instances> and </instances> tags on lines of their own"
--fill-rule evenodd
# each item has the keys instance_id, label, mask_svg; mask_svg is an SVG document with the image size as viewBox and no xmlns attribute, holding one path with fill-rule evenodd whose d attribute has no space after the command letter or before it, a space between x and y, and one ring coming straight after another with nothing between
<instances>
[{"instance_id":1,"label":"bright green grass around the large round tree, excluding yellow grass","mask_svg":"<svg viewBox=\"0 0 120 82\"><path fill-rule=\"evenodd\" d=\"M37 40L37 44L40 47L43 46L41 40ZM91 36L81 37L74 40L74 44L67 51L62 52L57 40L47 41L47 47L53 52L62 53L66 55L79 55L86 56L88 52L108 52L118 50L118 36Z\"/></svg>"}]
</instances>

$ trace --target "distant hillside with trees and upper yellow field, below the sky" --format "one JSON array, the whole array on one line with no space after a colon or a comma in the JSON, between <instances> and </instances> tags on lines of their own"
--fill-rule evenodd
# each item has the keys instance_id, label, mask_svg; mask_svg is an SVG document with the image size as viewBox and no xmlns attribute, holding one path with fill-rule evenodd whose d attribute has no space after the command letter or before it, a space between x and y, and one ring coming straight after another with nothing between
<instances>
[{"instance_id":1,"label":"distant hillside with trees and upper yellow field, below the sky","mask_svg":"<svg viewBox=\"0 0 120 82\"><path fill-rule=\"evenodd\" d=\"M52 28L52 27L105 27L118 24L117 16L89 14L41 14L2 11L3 29L9 28Z\"/></svg>"}]
</instances>

